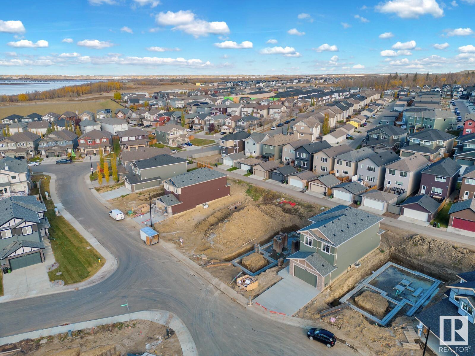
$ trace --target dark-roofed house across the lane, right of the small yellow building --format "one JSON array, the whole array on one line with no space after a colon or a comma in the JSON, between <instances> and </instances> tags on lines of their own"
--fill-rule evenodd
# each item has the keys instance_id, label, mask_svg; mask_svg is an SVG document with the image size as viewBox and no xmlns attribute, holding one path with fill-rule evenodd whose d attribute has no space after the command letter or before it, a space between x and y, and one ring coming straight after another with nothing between
<instances>
[{"instance_id":1,"label":"dark-roofed house across the lane, right of the small yellow building","mask_svg":"<svg viewBox=\"0 0 475 356\"><path fill-rule=\"evenodd\" d=\"M398 150L404 146L408 135L407 130L392 125L376 126L366 131L366 137L361 142L361 147L368 147L375 152Z\"/></svg>"}]
</instances>

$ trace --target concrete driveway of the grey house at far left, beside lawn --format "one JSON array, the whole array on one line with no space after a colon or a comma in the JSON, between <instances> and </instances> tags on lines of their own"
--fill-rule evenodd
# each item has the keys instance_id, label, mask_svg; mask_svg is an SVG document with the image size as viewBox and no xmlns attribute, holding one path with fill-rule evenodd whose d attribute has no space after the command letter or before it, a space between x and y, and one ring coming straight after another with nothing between
<instances>
[{"instance_id":1,"label":"concrete driveway of the grey house at far left, beside lawn","mask_svg":"<svg viewBox=\"0 0 475 356\"><path fill-rule=\"evenodd\" d=\"M46 264L19 268L3 275L3 294L11 295L50 288Z\"/></svg>"}]
</instances>

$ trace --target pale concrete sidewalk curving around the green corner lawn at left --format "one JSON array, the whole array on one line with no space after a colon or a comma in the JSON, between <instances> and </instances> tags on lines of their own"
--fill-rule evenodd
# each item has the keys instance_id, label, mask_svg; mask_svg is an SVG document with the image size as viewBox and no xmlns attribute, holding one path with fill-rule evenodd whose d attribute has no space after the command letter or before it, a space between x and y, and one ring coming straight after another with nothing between
<instances>
[{"instance_id":1,"label":"pale concrete sidewalk curving around the green corner lawn at left","mask_svg":"<svg viewBox=\"0 0 475 356\"><path fill-rule=\"evenodd\" d=\"M117 259L110 253L96 238L91 235L78 221L67 212L67 210L63 207L61 202L59 201L57 194L56 194L56 175L53 173L43 172L43 174L48 175L51 177L51 181L49 183L49 191L51 194L51 200L61 213L61 215L77 230L79 234L81 234L86 241L93 246L98 253L100 253L105 258L105 263L102 268L95 273L93 276L89 277L87 280L75 283L75 284L68 284L66 286L61 287L52 287L47 288L44 290L33 290L28 291L25 293L18 293L18 294L11 294L0 297L0 303L6 303L13 300L19 299L28 299L39 297L43 295L55 294L55 293L62 293L68 292L72 290L80 290L83 288L87 288L93 286L101 281L104 281L107 277L109 277L112 273L115 272L118 266ZM87 177L89 179L89 175ZM94 189L95 191L95 189ZM97 192L96 192L97 193Z\"/></svg>"}]
</instances>

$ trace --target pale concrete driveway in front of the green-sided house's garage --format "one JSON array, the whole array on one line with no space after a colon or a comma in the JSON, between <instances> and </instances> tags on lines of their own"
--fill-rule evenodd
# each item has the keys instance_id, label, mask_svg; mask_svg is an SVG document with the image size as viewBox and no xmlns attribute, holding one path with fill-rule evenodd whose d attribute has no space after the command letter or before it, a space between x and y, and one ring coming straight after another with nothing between
<instances>
[{"instance_id":1,"label":"pale concrete driveway in front of the green-sided house's garage","mask_svg":"<svg viewBox=\"0 0 475 356\"><path fill-rule=\"evenodd\" d=\"M254 299L254 302L272 311L294 315L320 293L310 284L291 276L289 267L280 271L279 276L284 278Z\"/></svg>"}]
</instances>

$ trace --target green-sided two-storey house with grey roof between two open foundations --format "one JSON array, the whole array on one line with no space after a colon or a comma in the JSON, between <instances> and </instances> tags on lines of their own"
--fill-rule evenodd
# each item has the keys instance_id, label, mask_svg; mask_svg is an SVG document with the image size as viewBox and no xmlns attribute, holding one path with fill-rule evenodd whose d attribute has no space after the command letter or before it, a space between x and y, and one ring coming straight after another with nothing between
<instances>
[{"instance_id":1,"label":"green-sided two-storey house with grey roof between two open foundations","mask_svg":"<svg viewBox=\"0 0 475 356\"><path fill-rule=\"evenodd\" d=\"M348 206L335 206L309 219L299 230L300 250L287 257L291 275L322 291L380 246L382 217Z\"/></svg>"}]
</instances>

